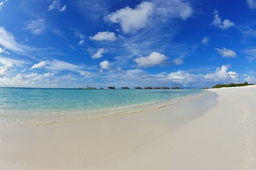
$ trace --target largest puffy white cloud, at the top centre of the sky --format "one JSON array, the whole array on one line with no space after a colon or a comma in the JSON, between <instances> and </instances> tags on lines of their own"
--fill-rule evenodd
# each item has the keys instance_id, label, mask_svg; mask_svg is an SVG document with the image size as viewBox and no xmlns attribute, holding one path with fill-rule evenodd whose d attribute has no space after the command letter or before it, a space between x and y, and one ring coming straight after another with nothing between
<instances>
[{"instance_id":1,"label":"largest puffy white cloud, at the top centre of the sky","mask_svg":"<svg viewBox=\"0 0 256 170\"><path fill-rule=\"evenodd\" d=\"M146 27L153 13L154 4L144 1L134 9L129 6L119 9L107 16L112 23L119 23L124 33L134 33Z\"/></svg>"}]
</instances>

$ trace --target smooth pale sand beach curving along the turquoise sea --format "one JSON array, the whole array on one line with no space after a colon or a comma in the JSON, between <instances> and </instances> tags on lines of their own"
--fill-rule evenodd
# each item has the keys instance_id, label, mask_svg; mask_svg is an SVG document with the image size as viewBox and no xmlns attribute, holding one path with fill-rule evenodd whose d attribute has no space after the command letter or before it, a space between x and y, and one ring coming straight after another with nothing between
<instances>
[{"instance_id":1,"label":"smooth pale sand beach curving along the turquoise sea","mask_svg":"<svg viewBox=\"0 0 256 170\"><path fill-rule=\"evenodd\" d=\"M256 169L256 86L152 111L0 126L0 169Z\"/></svg>"}]
</instances>

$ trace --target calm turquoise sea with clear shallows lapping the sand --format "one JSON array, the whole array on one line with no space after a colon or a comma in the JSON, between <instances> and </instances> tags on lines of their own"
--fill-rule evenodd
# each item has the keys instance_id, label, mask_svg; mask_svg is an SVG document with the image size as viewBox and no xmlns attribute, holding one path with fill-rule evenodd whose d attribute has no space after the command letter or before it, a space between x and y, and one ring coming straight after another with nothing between
<instances>
[{"instance_id":1,"label":"calm turquoise sea with clear shallows lapping the sand","mask_svg":"<svg viewBox=\"0 0 256 170\"><path fill-rule=\"evenodd\" d=\"M0 88L0 125L38 125L133 113L202 90Z\"/></svg>"}]
</instances>

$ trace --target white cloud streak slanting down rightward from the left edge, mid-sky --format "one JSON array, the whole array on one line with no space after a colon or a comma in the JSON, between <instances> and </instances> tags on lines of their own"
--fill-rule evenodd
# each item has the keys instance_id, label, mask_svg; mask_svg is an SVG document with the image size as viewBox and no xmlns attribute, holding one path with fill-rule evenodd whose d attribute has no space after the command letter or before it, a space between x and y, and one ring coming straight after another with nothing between
<instances>
[{"instance_id":1,"label":"white cloud streak slanting down rightward from the left edge, mid-sky","mask_svg":"<svg viewBox=\"0 0 256 170\"><path fill-rule=\"evenodd\" d=\"M18 53L24 53L30 50L30 48L26 47L25 45L19 45L18 42L14 40L14 36L3 27L0 27L0 45L3 45L6 49Z\"/></svg>"}]
</instances>

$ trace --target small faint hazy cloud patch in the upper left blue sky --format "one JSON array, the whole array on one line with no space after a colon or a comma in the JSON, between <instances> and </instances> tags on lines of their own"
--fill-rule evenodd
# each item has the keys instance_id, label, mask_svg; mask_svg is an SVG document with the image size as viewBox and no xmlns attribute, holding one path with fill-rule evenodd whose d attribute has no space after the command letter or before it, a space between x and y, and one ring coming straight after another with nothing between
<instances>
[{"instance_id":1,"label":"small faint hazy cloud patch in the upper left blue sky","mask_svg":"<svg viewBox=\"0 0 256 170\"><path fill-rule=\"evenodd\" d=\"M40 35L46 30L46 19L40 18L38 20L30 21L27 23L27 29L35 35Z\"/></svg>"}]
</instances>

